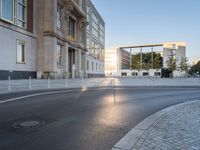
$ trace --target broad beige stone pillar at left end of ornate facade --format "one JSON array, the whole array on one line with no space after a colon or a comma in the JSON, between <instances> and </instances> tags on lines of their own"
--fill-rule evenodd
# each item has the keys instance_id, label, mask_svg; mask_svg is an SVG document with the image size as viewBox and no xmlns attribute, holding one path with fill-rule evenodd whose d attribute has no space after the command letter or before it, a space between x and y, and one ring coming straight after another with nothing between
<instances>
[{"instance_id":1,"label":"broad beige stone pillar at left end of ornate facade","mask_svg":"<svg viewBox=\"0 0 200 150\"><path fill-rule=\"evenodd\" d=\"M38 50L37 68L41 76L47 78L54 76L56 71L56 45L57 38L52 36L56 33L57 0L37 1L38 10Z\"/></svg>"}]
</instances>

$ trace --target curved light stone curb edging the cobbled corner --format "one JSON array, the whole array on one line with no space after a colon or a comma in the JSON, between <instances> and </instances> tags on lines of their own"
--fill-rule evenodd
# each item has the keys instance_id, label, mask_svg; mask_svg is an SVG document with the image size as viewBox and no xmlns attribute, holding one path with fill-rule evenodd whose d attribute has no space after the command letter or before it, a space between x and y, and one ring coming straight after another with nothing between
<instances>
[{"instance_id":1,"label":"curved light stone curb edging the cobbled corner","mask_svg":"<svg viewBox=\"0 0 200 150\"><path fill-rule=\"evenodd\" d=\"M170 106L147 117L136 127L130 130L117 144L115 144L112 150L132 150L132 148L134 147L136 142L140 139L140 137L143 135L143 133L147 129L149 129L153 124L168 116L168 114L170 114L171 111L178 109L178 107L182 107L184 105L193 104L197 102L199 103L200 101L195 100Z\"/></svg>"}]
</instances>

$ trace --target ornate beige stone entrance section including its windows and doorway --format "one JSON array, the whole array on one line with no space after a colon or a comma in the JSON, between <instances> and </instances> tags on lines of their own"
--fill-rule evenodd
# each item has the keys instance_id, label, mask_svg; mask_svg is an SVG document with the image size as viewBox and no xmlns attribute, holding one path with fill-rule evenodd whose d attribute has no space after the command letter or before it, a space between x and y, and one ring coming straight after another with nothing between
<instances>
[{"instance_id":1,"label":"ornate beige stone entrance section including its windows and doorway","mask_svg":"<svg viewBox=\"0 0 200 150\"><path fill-rule=\"evenodd\" d=\"M78 77L86 64L86 0L38 0L38 77Z\"/></svg>"}]
</instances>

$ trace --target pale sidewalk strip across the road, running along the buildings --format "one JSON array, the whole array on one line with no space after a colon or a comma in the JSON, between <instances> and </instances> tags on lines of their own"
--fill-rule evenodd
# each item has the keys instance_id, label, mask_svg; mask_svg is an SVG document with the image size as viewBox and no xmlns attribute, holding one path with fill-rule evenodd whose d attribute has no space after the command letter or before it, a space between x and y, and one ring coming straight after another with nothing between
<instances>
[{"instance_id":1,"label":"pale sidewalk strip across the road, running along the buildings","mask_svg":"<svg viewBox=\"0 0 200 150\"><path fill-rule=\"evenodd\" d=\"M40 89L63 89L63 88L82 88L82 87L200 87L200 78L83 78L83 79L55 79L55 80L0 80L0 94L31 91Z\"/></svg>"}]
</instances>

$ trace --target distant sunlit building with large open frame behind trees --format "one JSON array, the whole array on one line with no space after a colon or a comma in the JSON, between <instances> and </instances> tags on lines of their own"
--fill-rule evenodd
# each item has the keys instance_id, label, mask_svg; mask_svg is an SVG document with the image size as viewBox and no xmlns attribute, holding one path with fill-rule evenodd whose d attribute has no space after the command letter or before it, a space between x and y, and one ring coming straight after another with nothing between
<instances>
[{"instance_id":1,"label":"distant sunlit building with large open frame behind trees","mask_svg":"<svg viewBox=\"0 0 200 150\"><path fill-rule=\"evenodd\" d=\"M154 49L158 49L156 52ZM150 53L159 53L163 57L163 65L161 68L155 69L152 64L149 64L149 69L144 69L143 63L143 49L150 48ZM132 56L134 49L139 49L140 53L140 67L138 69L132 69ZM105 50L105 74L107 76L161 76L161 69L167 68L167 60L170 56L173 56L177 60L177 67L180 64L180 60L186 57L186 44L184 42L175 43L161 43L161 44L147 44L136 46L119 46L113 48L107 48ZM151 57L152 62L154 58ZM174 72L175 76L179 76L179 72Z\"/></svg>"}]
</instances>

